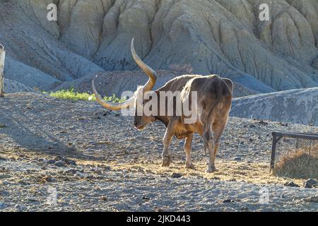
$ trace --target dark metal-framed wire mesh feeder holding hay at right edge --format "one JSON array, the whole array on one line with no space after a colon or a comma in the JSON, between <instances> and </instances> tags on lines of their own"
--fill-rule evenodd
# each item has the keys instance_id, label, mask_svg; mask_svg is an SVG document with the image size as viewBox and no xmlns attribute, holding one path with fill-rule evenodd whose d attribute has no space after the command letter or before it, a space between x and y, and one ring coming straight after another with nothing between
<instances>
[{"instance_id":1,"label":"dark metal-framed wire mesh feeder holding hay at right edge","mask_svg":"<svg viewBox=\"0 0 318 226\"><path fill-rule=\"evenodd\" d=\"M288 172L284 176L311 177L318 174L318 134L272 132L272 136L271 171L293 162L293 167L289 165L289 169L285 169Z\"/></svg>"}]
</instances>

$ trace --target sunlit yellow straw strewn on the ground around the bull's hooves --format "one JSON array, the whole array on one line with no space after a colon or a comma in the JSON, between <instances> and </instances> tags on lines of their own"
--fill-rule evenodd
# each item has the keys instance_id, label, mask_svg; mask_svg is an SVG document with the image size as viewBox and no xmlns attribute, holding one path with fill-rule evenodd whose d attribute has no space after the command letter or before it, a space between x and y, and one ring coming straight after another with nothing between
<instances>
[{"instance_id":1,"label":"sunlit yellow straw strewn on the ground around the bull's hooves","mask_svg":"<svg viewBox=\"0 0 318 226\"><path fill-rule=\"evenodd\" d=\"M93 162L90 162L92 164ZM150 174L167 175L172 173L182 174L182 177L201 177L203 179L218 179L220 181L248 182L253 184L284 184L289 182L289 177L277 177L269 172L267 163L247 163L229 160L216 160L218 172L207 173L206 162L195 162L195 169L185 169L184 162L173 162L170 167L161 167L160 161L156 162L105 162L114 170L126 172L146 172ZM302 179L293 179L295 184L301 185Z\"/></svg>"}]
</instances>

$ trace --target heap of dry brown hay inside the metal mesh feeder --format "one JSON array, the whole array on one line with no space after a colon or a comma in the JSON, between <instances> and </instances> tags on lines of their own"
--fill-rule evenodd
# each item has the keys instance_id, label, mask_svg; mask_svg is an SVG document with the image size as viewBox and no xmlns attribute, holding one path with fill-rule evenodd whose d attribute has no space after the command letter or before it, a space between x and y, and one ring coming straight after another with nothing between
<instances>
[{"instance_id":1,"label":"heap of dry brown hay inside the metal mesh feeder","mask_svg":"<svg viewBox=\"0 0 318 226\"><path fill-rule=\"evenodd\" d=\"M298 150L292 155L281 157L273 169L273 174L280 177L318 179L318 157Z\"/></svg>"}]
</instances>

